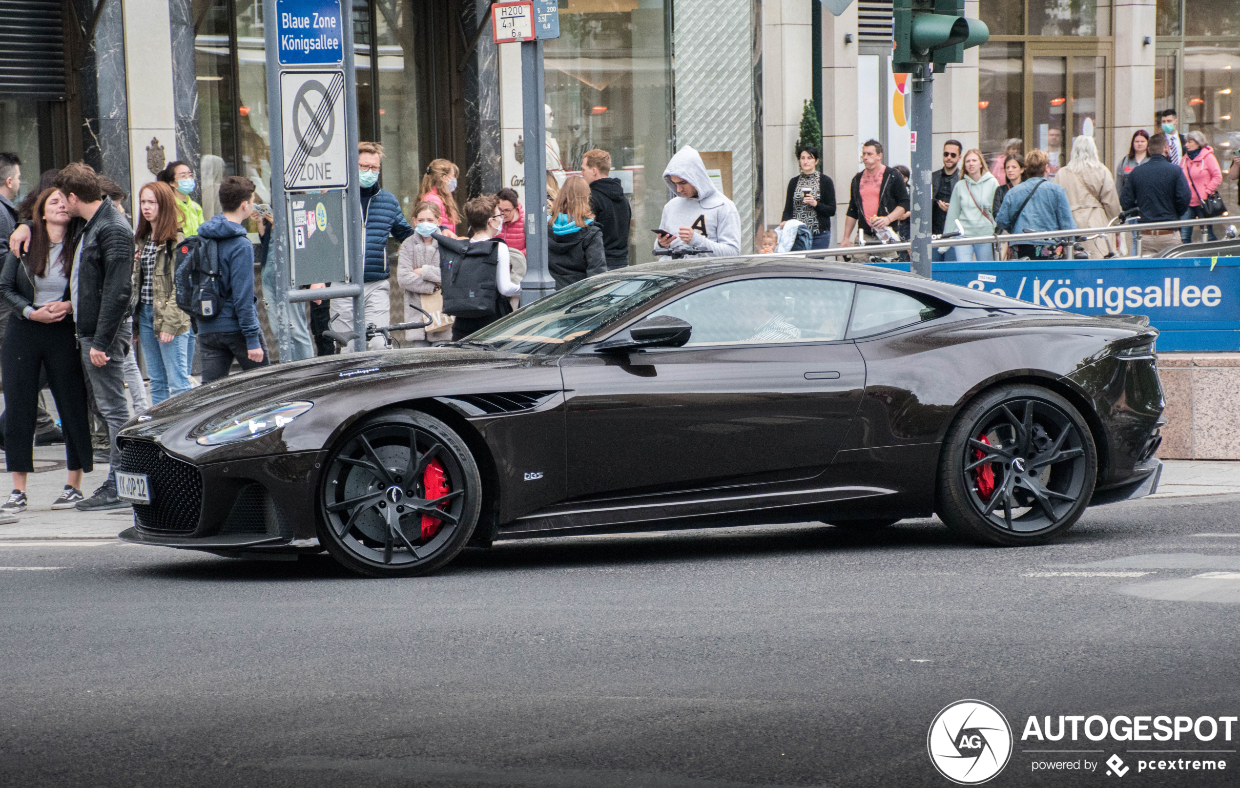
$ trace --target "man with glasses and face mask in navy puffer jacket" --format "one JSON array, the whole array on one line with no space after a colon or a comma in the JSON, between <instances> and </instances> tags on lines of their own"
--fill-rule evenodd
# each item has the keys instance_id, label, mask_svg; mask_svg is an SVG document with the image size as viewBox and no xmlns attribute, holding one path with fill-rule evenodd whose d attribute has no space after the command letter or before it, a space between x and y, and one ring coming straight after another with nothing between
<instances>
[{"instance_id":1,"label":"man with glasses and face mask in navy puffer jacket","mask_svg":"<svg viewBox=\"0 0 1240 788\"><path fill-rule=\"evenodd\" d=\"M387 259L388 236L404 241L413 235L413 227L404 220L396 195L379 189L379 169L383 163L383 145L357 144L357 182L362 195L362 223L366 226L366 274L362 300L366 304L366 323L388 325L392 323L391 268ZM337 298L331 302L331 330L347 334L353 330L353 299ZM371 350L387 346L382 336L371 340ZM352 344L341 352L351 352Z\"/></svg>"}]
</instances>

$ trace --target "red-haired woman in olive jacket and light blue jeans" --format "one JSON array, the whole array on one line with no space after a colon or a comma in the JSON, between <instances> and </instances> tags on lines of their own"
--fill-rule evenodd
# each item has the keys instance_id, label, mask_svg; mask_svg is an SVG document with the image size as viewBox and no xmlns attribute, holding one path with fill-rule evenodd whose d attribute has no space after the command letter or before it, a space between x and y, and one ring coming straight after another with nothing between
<instances>
[{"instance_id":1,"label":"red-haired woman in olive jacket and light blue jeans","mask_svg":"<svg viewBox=\"0 0 1240 788\"><path fill-rule=\"evenodd\" d=\"M151 376L151 405L193 387L188 375L190 315L176 305L176 244L181 210L172 187L161 181L138 191L138 252L141 295L138 299L138 336L146 372Z\"/></svg>"}]
</instances>

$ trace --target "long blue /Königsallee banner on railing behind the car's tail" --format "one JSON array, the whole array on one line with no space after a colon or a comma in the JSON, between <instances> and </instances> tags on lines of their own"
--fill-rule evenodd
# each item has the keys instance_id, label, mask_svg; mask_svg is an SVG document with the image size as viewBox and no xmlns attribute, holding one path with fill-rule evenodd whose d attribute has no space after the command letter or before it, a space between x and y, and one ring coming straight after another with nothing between
<instances>
[{"instance_id":1,"label":"long blue /K\u00f6nigsallee banner on railing behind the car's tail","mask_svg":"<svg viewBox=\"0 0 1240 788\"><path fill-rule=\"evenodd\" d=\"M942 262L934 278L1065 311L1148 315L1159 350L1240 350L1240 257Z\"/></svg>"}]
</instances>

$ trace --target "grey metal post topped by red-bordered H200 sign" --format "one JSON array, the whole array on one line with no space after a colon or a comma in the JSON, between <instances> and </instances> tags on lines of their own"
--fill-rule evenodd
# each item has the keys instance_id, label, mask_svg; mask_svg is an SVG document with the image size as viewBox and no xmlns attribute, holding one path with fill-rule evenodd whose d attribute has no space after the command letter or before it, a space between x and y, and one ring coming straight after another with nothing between
<instances>
[{"instance_id":1,"label":"grey metal post topped by red-bordered H200 sign","mask_svg":"<svg viewBox=\"0 0 1240 788\"><path fill-rule=\"evenodd\" d=\"M521 303L528 304L556 292L556 282L547 271L547 99L542 42L559 37L559 4L557 0L496 4L491 6L491 22L496 43L521 41L526 140L526 278L521 282Z\"/></svg>"}]
</instances>

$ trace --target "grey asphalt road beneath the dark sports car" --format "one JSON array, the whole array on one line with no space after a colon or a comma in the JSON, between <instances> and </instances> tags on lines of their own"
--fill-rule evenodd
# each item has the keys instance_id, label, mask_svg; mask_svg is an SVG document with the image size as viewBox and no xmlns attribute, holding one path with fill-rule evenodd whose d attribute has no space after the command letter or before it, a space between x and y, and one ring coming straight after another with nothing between
<instances>
[{"instance_id":1,"label":"grey asphalt road beneath the dark sports car","mask_svg":"<svg viewBox=\"0 0 1240 788\"><path fill-rule=\"evenodd\" d=\"M936 521L503 542L399 581L0 545L0 783L937 787L931 720L981 699L1016 740L990 786L1116 782L1032 771L1111 754L1123 784L1235 784L1240 725L1021 737L1029 715L1240 714L1240 580L1197 577L1240 571L1238 503L1095 509L1019 550ZM1136 748L1233 752L1138 772Z\"/></svg>"}]
</instances>

